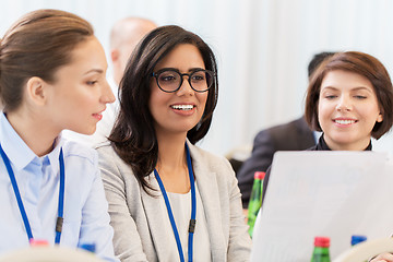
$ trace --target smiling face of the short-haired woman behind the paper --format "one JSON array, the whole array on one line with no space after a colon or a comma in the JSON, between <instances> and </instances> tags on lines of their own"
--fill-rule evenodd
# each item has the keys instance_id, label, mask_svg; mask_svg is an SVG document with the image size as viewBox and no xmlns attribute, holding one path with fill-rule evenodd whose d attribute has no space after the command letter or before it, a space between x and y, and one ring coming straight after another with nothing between
<instances>
[{"instance_id":1,"label":"smiling face of the short-haired woman behind the paper","mask_svg":"<svg viewBox=\"0 0 393 262\"><path fill-rule=\"evenodd\" d=\"M367 78L334 70L321 83L318 119L331 150L362 151L370 143L376 122L383 117Z\"/></svg>"}]
</instances>

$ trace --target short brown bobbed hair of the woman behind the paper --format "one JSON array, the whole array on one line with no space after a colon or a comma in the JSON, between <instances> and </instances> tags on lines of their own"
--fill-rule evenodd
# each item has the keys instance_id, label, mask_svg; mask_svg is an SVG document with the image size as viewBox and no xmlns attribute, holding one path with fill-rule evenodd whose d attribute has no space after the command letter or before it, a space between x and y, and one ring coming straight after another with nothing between
<instances>
[{"instance_id":1,"label":"short brown bobbed hair of the woman behind the paper","mask_svg":"<svg viewBox=\"0 0 393 262\"><path fill-rule=\"evenodd\" d=\"M382 122L376 122L371 131L374 139L386 133L393 123L393 86L386 69L374 57L358 52L337 52L322 64L312 74L306 97L305 117L308 124L322 131L318 119L318 104L321 92L321 84L324 76L334 70L344 70L360 74L368 79L376 92L378 106L383 116Z\"/></svg>"}]
</instances>

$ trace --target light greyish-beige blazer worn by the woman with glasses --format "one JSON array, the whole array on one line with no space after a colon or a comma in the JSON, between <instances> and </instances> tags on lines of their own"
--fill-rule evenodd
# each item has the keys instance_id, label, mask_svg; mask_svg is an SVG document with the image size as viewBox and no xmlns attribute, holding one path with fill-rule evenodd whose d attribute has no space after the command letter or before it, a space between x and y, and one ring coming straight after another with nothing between
<instances>
[{"instance_id":1,"label":"light greyish-beige blazer worn by the woman with glasses","mask_svg":"<svg viewBox=\"0 0 393 262\"><path fill-rule=\"evenodd\" d=\"M212 261L249 261L251 239L230 164L224 157L188 145L206 216ZM115 229L115 253L122 262L167 262L167 243L174 236L162 229L162 221L168 219L168 215L154 175L147 179L158 190L153 192L157 198L142 190L130 166L111 146L102 146L97 151L110 224Z\"/></svg>"}]
</instances>

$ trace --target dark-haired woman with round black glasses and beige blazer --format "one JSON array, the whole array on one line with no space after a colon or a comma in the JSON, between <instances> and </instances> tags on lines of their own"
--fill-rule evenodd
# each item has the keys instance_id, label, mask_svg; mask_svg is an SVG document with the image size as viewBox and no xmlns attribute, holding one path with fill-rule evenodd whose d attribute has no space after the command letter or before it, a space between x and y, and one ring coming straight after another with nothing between
<instances>
[{"instance_id":1,"label":"dark-haired woman with round black glasses and beige blazer","mask_svg":"<svg viewBox=\"0 0 393 262\"><path fill-rule=\"evenodd\" d=\"M178 26L151 32L120 83L120 112L98 148L121 261L249 261L230 164L194 144L217 103L211 48Z\"/></svg>"}]
</instances>

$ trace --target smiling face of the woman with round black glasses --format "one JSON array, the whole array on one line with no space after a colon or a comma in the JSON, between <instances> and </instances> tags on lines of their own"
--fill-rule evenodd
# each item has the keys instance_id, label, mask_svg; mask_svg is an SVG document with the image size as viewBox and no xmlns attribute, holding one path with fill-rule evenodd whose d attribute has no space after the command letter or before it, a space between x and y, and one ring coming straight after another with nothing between
<instances>
[{"instance_id":1,"label":"smiling face of the woman with round black glasses","mask_svg":"<svg viewBox=\"0 0 393 262\"><path fill-rule=\"evenodd\" d=\"M174 48L154 69L176 69L180 73L192 73L205 69L200 50L191 44ZM209 91L199 93L191 88L188 76L183 76L180 88L174 93L162 91L154 78L151 81L148 108L154 119L157 135L160 133L184 133L201 120Z\"/></svg>"}]
</instances>

